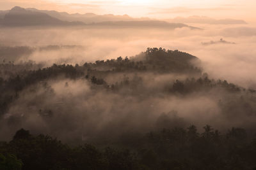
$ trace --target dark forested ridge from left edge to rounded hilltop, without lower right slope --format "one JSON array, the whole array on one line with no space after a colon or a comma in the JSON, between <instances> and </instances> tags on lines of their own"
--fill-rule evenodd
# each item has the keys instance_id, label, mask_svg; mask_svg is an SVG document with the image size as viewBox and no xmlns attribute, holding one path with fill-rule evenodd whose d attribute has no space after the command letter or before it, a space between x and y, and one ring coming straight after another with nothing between
<instances>
[{"instance_id":1,"label":"dark forested ridge from left edge to rounded hilltop, without lower right slope","mask_svg":"<svg viewBox=\"0 0 256 170\"><path fill-rule=\"evenodd\" d=\"M202 71L192 64L198 60L193 55L178 50L165 50L163 48L148 48L146 52L135 57L86 62L83 66L56 65L42 67L33 62L13 64L2 62L0 64L0 115L8 110L8 105L19 96L19 92L41 81L55 79L61 76L77 80L80 78L92 79L92 83L106 87L118 87L118 83L107 83L106 76L115 77L116 73L157 73L157 74L193 74L201 75ZM119 82L120 83L120 82ZM115 84L115 85L114 85Z\"/></svg>"}]
</instances>

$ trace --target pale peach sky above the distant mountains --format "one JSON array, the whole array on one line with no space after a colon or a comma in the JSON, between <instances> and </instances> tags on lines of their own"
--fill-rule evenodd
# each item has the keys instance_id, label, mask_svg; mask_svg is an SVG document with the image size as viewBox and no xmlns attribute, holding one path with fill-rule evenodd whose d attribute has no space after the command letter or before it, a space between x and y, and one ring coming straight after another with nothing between
<instances>
[{"instance_id":1,"label":"pale peach sky above the distant mountains","mask_svg":"<svg viewBox=\"0 0 256 170\"><path fill-rule=\"evenodd\" d=\"M0 10L13 6L68 13L173 18L192 15L256 20L255 0L0 0Z\"/></svg>"}]
</instances>

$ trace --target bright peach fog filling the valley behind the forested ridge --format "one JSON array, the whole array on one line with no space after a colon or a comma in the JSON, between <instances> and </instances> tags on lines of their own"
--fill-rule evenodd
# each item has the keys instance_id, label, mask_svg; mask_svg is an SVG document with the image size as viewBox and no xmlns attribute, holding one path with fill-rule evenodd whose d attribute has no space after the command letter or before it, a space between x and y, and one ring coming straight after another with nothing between
<instances>
[{"instance_id":1,"label":"bright peach fog filling the valley behind the forested ridge","mask_svg":"<svg viewBox=\"0 0 256 170\"><path fill-rule=\"evenodd\" d=\"M147 47L163 47L195 55L202 60L204 71L212 78L225 78L244 87L255 88L256 27L248 25L199 25L203 30L166 29L1 29L1 46L29 46L31 53L17 56L20 60L83 64L95 60L131 57ZM202 43L221 38L231 43ZM234 44L236 43L236 45ZM49 45L75 45L74 48L38 50ZM78 46L78 47L77 47ZM4 56L1 56L4 59Z\"/></svg>"}]
</instances>

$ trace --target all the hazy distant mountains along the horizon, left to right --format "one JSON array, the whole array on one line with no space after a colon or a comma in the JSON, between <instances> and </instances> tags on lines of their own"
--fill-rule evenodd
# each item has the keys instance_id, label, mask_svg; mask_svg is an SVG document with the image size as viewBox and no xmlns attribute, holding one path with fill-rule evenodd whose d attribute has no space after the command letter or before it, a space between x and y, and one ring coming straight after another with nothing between
<instances>
[{"instance_id":1,"label":"all the hazy distant mountains along the horizon, left to right","mask_svg":"<svg viewBox=\"0 0 256 170\"><path fill-rule=\"evenodd\" d=\"M214 20L208 17L173 18L166 21L150 18L132 18L128 15L96 15L94 13L69 14L66 12L37 10L15 6L12 10L0 11L0 25L6 27L19 26L87 26L87 27L145 27L175 29L189 27L181 23L207 24L246 24L243 20Z\"/></svg>"}]
</instances>

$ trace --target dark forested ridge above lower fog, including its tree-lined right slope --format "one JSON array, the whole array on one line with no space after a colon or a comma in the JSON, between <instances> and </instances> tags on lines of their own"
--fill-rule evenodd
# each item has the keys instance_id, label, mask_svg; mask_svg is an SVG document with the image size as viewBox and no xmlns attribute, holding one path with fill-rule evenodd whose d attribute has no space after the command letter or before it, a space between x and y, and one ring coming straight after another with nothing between
<instances>
[{"instance_id":1,"label":"dark forested ridge above lower fog, including its tree-lined right slope","mask_svg":"<svg viewBox=\"0 0 256 170\"><path fill-rule=\"evenodd\" d=\"M187 80L177 77L177 80L169 80L162 85L162 92L194 92L203 89L221 87L231 91L244 90L232 83L221 80L210 80L202 74L202 70L193 64L199 60L189 53L178 50L165 50L163 48L148 48L146 52L131 57L108 60L97 60L86 62L83 66L56 65L42 67L33 62L23 64L2 63L0 64L0 115L8 111L10 103L19 98L19 92L40 82L55 80L56 78L68 78L70 80L88 80L92 85L103 85L104 89L131 89L136 93L136 87L143 85L143 74L151 74L149 77L157 78L161 74L184 74ZM116 74L124 75L123 78L116 78ZM131 74L126 76L125 74ZM109 81L109 76L115 81ZM179 79L179 80L178 80ZM183 81L183 82L182 82ZM154 80L152 80L152 83ZM173 85L172 85L173 83ZM124 85L127 86L124 86ZM147 89L140 90L138 94L147 94ZM157 90L154 93L159 93Z\"/></svg>"}]
</instances>

